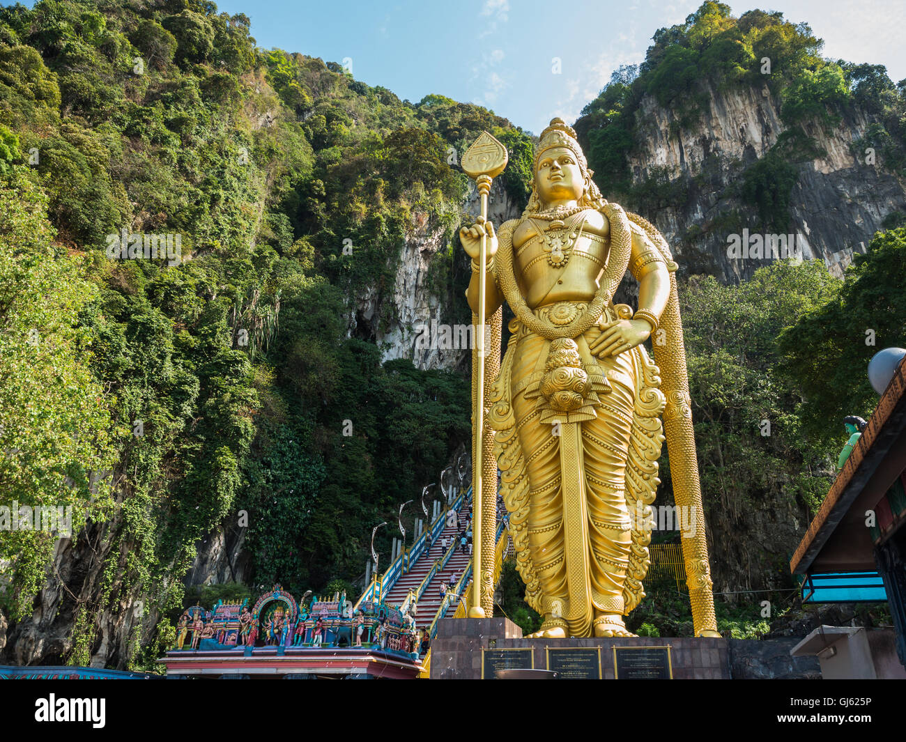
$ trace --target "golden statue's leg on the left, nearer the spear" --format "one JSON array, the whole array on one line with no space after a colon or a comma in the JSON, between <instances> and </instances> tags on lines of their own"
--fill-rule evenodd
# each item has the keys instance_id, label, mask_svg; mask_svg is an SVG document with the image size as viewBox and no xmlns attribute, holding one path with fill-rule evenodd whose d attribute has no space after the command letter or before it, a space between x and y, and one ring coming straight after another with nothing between
<instances>
[{"instance_id":1,"label":"golden statue's leg on the left, nearer the spear","mask_svg":"<svg viewBox=\"0 0 906 742\"><path fill-rule=\"evenodd\" d=\"M565 636L565 622L558 615L569 596L559 438L553 435L550 425L538 422L535 400L526 400L519 393L513 407L529 481L528 544L541 585L545 613L542 629L545 636Z\"/></svg>"}]
</instances>

